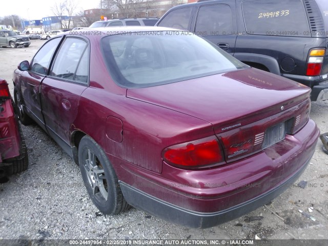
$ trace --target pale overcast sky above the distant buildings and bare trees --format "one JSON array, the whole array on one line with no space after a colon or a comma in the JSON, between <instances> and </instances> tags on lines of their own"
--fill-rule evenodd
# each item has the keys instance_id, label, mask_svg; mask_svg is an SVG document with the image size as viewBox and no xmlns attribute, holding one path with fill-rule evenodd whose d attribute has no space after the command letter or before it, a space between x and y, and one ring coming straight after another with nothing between
<instances>
[{"instance_id":1,"label":"pale overcast sky above the distant buildings and bare trees","mask_svg":"<svg viewBox=\"0 0 328 246\"><path fill-rule=\"evenodd\" d=\"M45 0L11 0L2 1L0 7L0 16L16 14L22 18L28 19L42 19L42 17L53 16L51 7L55 1ZM75 0L77 5L76 12L85 9L98 8L100 0Z\"/></svg>"}]
</instances>

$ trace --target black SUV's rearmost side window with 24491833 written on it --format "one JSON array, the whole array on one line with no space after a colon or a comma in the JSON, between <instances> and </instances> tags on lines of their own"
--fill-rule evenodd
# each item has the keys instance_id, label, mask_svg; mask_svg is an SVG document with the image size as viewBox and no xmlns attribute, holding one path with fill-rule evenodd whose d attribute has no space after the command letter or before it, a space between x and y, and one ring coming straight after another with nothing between
<instances>
[{"instance_id":1,"label":"black SUV's rearmost side window with 24491833 written on it","mask_svg":"<svg viewBox=\"0 0 328 246\"><path fill-rule=\"evenodd\" d=\"M244 1L242 13L249 34L311 36L308 17L301 0Z\"/></svg>"}]
</instances>

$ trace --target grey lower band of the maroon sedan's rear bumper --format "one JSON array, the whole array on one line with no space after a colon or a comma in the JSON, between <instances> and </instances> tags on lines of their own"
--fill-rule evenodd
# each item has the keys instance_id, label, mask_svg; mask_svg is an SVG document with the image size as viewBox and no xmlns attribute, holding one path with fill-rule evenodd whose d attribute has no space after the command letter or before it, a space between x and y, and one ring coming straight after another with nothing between
<instances>
[{"instance_id":1,"label":"grey lower band of the maroon sedan's rear bumper","mask_svg":"<svg viewBox=\"0 0 328 246\"><path fill-rule=\"evenodd\" d=\"M301 169L299 169L292 177L283 182L280 186L275 187L269 192L252 200L216 213L199 213L177 207L174 204L160 200L146 194L145 192L137 190L124 182L120 182L120 188L124 194L124 198L129 204L136 208L145 210L150 214L166 219L170 222L181 224L182 226L191 228L209 228L247 214L279 196L282 192L294 184L294 182L308 166L310 159L311 158L306 161Z\"/></svg>"}]
</instances>

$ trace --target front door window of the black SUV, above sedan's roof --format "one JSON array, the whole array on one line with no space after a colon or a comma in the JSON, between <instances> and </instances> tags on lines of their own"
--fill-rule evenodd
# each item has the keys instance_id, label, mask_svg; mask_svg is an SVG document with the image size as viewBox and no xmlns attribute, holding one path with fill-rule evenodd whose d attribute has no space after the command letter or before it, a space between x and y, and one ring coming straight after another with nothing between
<instances>
[{"instance_id":1,"label":"front door window of the black SUV, above sedan's roof","mask_svg":"<svg viewBox=\"0 0 328 246\"><path fill-rule=\"evenodd\" d=\"M159 27L172 27L188 30L191 8L172 10L158 24Z\"/></svg>"}]
</instances>

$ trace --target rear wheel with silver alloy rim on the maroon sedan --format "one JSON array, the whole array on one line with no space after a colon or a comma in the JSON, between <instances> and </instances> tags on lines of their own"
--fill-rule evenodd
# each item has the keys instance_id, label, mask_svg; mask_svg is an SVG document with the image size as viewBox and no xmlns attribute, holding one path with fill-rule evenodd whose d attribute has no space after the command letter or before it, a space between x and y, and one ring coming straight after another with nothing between
<instances>
[{"instance_id":1,"label":"rear wheel with silver alloy rim on the maroon sedan","mask_svg":"<svg viewBox=\"0 0 328 246\"><path fill-rule=\"evenodd\" d=\"M116 215L130 207L107 155L88 135L79 143L78 162L88 194L101 213Z\"/></svg>"}]
</instances>

